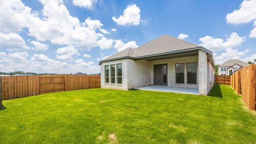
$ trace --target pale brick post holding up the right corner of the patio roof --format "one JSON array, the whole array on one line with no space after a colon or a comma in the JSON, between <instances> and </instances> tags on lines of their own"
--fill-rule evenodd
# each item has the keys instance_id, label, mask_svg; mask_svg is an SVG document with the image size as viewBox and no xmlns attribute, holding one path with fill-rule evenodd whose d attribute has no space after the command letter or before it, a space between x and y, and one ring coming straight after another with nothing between
<instances>
[{"instance_id":1,"label":"pale brick post holding up the right corner of the patio roof","mask_svg":"<svg viewBox=\"0 0 256 144\"><path fill-rule=\"evenodd\" d=\"M207 95L207 55L198 50L198 86L199 94Z\"/></svg>"}]
</instances>

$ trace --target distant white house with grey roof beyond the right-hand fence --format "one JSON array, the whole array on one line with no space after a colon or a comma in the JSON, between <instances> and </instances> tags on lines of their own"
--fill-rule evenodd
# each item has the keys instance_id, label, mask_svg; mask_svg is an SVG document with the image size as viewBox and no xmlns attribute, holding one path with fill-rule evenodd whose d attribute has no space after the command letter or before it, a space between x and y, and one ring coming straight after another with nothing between
<instances>
[{"instance_id":1,"label":"distant white house with grey roof beyond the right-hand fence","mask_svg":"<svg viewBox=\"0 0 256 144\"><path fill-rule=\"evenodd\" d=\"M237 59L228 60L219 66L218 75L221 75L221 76L232 75L235 71L247 65L249 64L241 60L237 60Z\"/></svg>"}]
</instances>

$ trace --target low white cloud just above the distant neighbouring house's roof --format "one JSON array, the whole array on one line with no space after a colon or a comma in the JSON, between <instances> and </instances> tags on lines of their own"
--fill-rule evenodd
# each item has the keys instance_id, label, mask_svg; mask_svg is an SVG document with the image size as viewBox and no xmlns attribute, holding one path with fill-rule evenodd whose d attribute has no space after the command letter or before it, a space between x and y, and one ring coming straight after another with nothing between
<instances>
[{"instance_id":1,"label":"low white cloud just above the distant neighbouring house's roof","mask_svg":"<svg viewBox=\"0 0 256 144\"><path fill-rule=\"evenodd\" d=\"M214 60L217 64L222 64L223 61L227 61L230 59L241 59L241 56L245 55L249 50L239 51L238 49L228 48L225 52L217 55L214 53Z\"/></svg>"}]
</instances>

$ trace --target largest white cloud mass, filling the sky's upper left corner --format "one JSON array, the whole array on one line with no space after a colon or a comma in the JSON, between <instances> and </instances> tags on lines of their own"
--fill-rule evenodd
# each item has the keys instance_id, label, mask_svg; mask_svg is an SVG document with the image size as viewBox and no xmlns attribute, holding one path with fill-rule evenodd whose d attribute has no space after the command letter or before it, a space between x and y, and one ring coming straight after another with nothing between
<instances>
[{"instance_id":1,"label":"largest white cloud mass, filling the sky's upper left corner","mask_svg":"<svg viewBox=\"0 0 256 144\"><path fill-rule=\"evenodd\" d=\"M97 46L97 34L92 28L99 21L87 19L83 26L79 19L69 14L62 1L40 0L41 12L33 12L20 0L3 0L0 6L0 31L18 32L27 28L28 35L37 41L50 41L53 44L74 45L83 50Z\"/></svg>"}]
</instances>

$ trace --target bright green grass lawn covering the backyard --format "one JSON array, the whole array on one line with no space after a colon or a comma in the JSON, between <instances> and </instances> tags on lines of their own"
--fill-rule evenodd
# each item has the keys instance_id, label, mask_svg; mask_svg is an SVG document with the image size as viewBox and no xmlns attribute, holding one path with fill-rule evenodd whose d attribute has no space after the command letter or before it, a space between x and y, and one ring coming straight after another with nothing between
<instances>
[{"instance_id":1,"label":"bright green grass lawn covering the backyard","mask_svg":"<svg viewBox=\"0 0 256 144\"><path fill-rule=\"evenodd\" d=\"M210 96L91 89L3 101L0 143L255 143L228 85Z\"/></svg>"}]
</instances>

